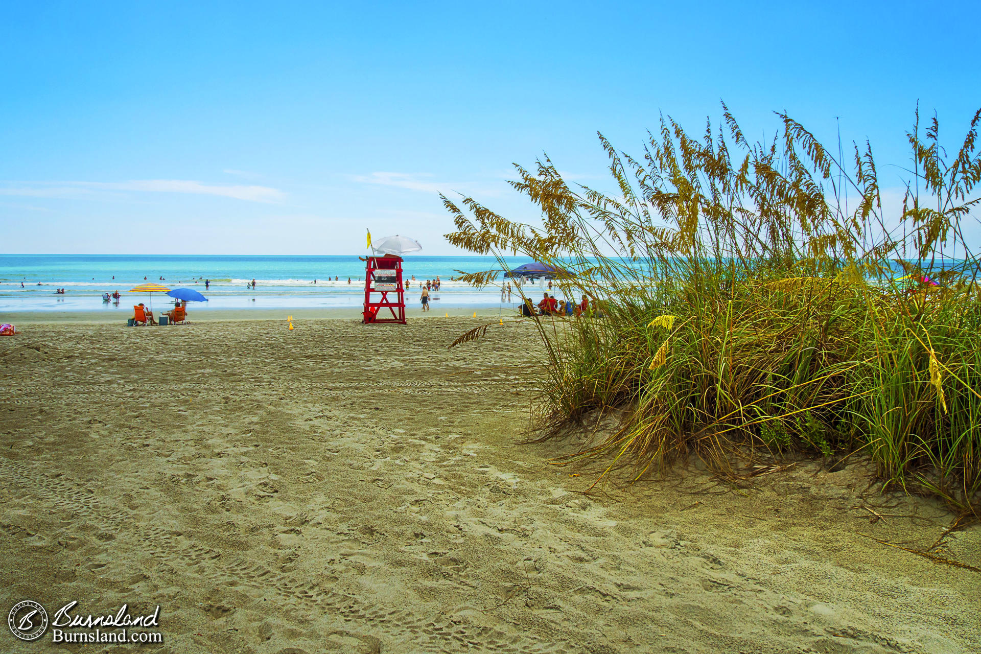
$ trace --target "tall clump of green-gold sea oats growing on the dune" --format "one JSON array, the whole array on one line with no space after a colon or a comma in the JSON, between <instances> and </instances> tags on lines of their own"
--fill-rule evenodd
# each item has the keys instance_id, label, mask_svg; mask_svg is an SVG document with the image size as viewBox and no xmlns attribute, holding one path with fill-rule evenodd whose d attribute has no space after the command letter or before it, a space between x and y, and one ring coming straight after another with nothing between
<instances>
[{"instance_id":1,"label":"tall clump of green-gold sea oats growing on the dune","mask_svg":"<svg viewBox=\"0 0 981 654\"><path fill-rule=\"evenodd\" d=\"M981 110L953 155L917 111L896 208L868 143L846 160L781 114L753 143L722 113L697 135L662 118L638 158L600 135L612 193L547 157L517 167L541 226L443 197L451 243L559 267L565 297L597 301L560 327L534 319L548 357L535 428L615 410L620 428L588 454L638 476L693 453L738 478L763 457L860 450L889 485L977 512L981 262L963 227Z\"/></svg>"}]
</instances>

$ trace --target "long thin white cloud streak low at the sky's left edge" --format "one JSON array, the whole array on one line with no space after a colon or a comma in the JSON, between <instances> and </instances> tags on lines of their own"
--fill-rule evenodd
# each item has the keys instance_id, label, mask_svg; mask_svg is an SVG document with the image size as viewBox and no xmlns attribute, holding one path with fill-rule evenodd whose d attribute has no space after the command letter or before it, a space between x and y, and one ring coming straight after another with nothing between
<instances>
[{"instance_id":1,"label":"long thin white cloud streak low at the sky's left edge","mask_svg":"<svg viewBox=\"0 0 981 654\"><path fill-rule=\"evenodd\" d=\"M27 197L78 198L93 197L98 191L132 191L143 193L186 193L217 195L245 202L277 202L284 198L278 188L244 184L211 184L193 179L132 179L129 181L51 181L10 182L0 186L0 195ZM16 184L16 185L14 185Z\"/></svg>"}]
</instances>

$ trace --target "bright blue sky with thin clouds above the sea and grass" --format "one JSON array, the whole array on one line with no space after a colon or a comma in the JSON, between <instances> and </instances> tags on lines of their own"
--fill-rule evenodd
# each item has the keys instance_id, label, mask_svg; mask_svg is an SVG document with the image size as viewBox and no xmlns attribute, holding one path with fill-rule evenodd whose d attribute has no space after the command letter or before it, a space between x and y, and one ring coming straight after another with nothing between
<instances>
[{"instance_id":1,"label":"bright blue sky with thin clouds above the sea and grass","mask_svg":"<svg viewBox=\"0 0 981 654\"><path fill-rule=\"evenodd\" d=\"M977 2L7 3L0 251L455 254L437 191L534 219L547 152L603 185L602 131L786 110L905 165L917 100L955 144L981 106Z\"/></svg>"}]
</instances>

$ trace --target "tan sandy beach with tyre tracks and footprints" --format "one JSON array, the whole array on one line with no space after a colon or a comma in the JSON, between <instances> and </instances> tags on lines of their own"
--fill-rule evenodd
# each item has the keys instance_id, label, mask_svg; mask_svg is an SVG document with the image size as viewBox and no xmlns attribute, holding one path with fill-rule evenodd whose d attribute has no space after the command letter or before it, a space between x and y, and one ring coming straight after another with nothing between
<instances>
[{"instance_id":1,"label":"tan sandy beach with tyre tracks and footprints","mask_svg":"<svg viewBox=\"0 0 981 654\"><path fill-rule=\"evenodd\" d=\"M875 540L925 550L953 516L879 493L860 459L584 495L594 467L549 464L578 437L521 443L529 326L447 349L485 321L292 313L16 317L4 611L159 604L141 649L174 653L981 651L981 574ZM931 552L981 568L981 530Z\"/></svg>"}]
</instances>

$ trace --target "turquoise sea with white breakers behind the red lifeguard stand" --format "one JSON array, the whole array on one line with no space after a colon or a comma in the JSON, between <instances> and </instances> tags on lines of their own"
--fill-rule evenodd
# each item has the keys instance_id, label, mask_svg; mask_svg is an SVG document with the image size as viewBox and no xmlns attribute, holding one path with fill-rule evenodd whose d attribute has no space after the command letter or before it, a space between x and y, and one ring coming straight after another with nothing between
<instances>
[{"instance_id":1,"label":"turquoise sea with white breakers behind the red lifeguard stand","mask_svg":"<svg viewBox=\"0 0 981 654\"><path fill-rule=\"evenodd\" d=\"M511 267L530 261L525 257L508 258ZM403 266L406 306L418 306L419 284L436 277L442 283L439 292L433 293L434 310L501 304L499 287L478 290L450 280L458 275L457 271L498 269L499 264L492 257L409 255ZM364 302L364 267L357 256L0 255L0 312L130 313L138 302L152 299L164 306L170 301L160 293L150 298L128 292L144 280L200 291L209 301L192 305L195 311L360 308ZM205 279L210 280L207 289ZM255 290L246 288L252 279L256 281ZM65 294L55 294L56 288L64 288ZM103 293L117 290L124 296L119 306L102 301ZM512 301L505 301L504 305L514 306L517 301L512 295Z\"/></svg>"}]
</instances>

